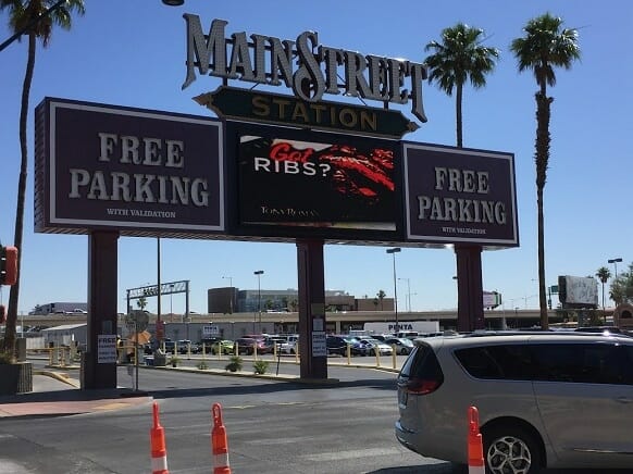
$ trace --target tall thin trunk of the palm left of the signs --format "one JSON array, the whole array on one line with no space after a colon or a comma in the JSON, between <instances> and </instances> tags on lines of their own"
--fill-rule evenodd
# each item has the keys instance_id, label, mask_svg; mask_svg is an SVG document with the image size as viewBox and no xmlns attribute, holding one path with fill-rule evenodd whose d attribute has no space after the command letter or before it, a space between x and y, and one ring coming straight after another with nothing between
<instances>
[{"instance_id":1,"label":"tall thin trunk of the palm left of the signs","mask_svg":"<svg viewBox=\"0 0 633 474\"><path fill-rule=\"evenodd\" d=\"M17 325L17 302L20 297L20 280L22 279L21 266L24 248L22 246L22 234L24 232L24 201L26 197L26 176L28 173L28 148L26 137L26 122L28 118L28 98L30 96L30 84L35 71L35 34L28 35L28 59L26 61L26 72L22 85L22 104L20 108L20 178L17 182L17 205L15 209L15 235L14 246L17 247L17 280L11 287L9 294L9 310L7 312L7 328L4 333L4 352L15 352L15 328Z\"/></svg>"}]
</instances>

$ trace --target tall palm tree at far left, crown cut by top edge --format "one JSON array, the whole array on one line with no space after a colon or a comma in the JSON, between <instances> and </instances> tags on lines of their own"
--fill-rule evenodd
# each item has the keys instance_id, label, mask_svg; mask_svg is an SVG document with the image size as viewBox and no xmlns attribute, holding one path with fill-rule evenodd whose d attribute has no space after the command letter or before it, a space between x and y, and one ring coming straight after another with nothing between
<instances>
[{"instance_id":1,"label":"tall palm tree at far left, crown cut by top edge","mask_svg":"<svg viewBox=\"0 0 633 474\"><path fill-rule=\"evenodd\" d=\"M26 174L28 167L26 123L28 118L28 98L35 70L36 40L39 38L46 48L50 41L53 24L64 29L71 28L71 12L84 14L83 0L67 0L65 2L52 0L0 0L0 10L9 11L9 24L14 33L28 36L28 55L26 72L22 86L22 104L20 108L20 177L17 180L17 205L15 209L15 235L13 244L20 252L17 254L17 282L9 294L9 311L4 332L3 351L13 353L15 350L15 325L17 322L17 301L20 296L20 269L24 249L22 234L24 229L24 201L26 195Z\"/></svg>"}]
</instances>

